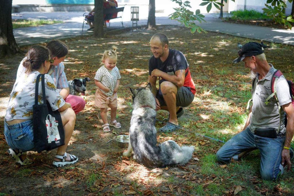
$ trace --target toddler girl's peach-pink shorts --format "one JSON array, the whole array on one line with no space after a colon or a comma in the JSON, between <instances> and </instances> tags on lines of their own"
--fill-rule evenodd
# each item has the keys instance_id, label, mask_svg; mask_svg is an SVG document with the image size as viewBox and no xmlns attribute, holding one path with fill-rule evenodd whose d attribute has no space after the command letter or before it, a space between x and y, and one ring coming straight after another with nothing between
<instances>
[{"instance_id":1,"label":"toddler girl's peach-pink shorts","mask_svg":"<svg viewBox=\"0 0 294 196\"><path fill-rule=\"evenodd\" d=\"M107 95L104 94L103 92L101 92L100 89L97 89L96 93L95 93L95 106L100 107L100 108L117 107L116 93L110 97L107 97Z\"/></svg>"}]
</instances>

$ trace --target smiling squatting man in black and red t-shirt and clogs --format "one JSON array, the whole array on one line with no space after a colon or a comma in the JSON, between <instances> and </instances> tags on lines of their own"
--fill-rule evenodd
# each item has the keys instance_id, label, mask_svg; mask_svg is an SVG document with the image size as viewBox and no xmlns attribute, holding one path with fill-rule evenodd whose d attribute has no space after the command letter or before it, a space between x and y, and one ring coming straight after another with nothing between
<instances>
[{"instance_id":1,"label":"smiling squatting man in black and red t-shirt and clogs","mask_svg":"<svg viewBox=\"0 0 294 196\"><path fill-rule=\"evenodd\" d=\"M156 97L156 110L169 112L168 123L159 131L172 132L180 128L178 117L184 113L182 107L190 105L194 99L195 84L186 57L182 52L168 48L165 34L154 34L150 40L150 48L153 56L149 59L149 82Z\"/></svg>"}]
</instances>

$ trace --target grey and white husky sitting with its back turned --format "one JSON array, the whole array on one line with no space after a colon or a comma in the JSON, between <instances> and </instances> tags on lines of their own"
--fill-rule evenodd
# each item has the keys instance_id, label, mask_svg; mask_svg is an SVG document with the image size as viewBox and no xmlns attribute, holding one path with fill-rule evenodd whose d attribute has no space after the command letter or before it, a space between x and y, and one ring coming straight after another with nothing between
<instances>
[{"instance_id":1,"label":"grey and white husky sitting with its back turned","mask_svg":"<svg viewBox=\"0 0 294 196\"><path fill-rule=\"evenodd\" d=\"M180 147L173 140L156 146L156 101L151 92L151 84L130 90L133 94L133 113L128 151L123 156L130 157L133 151L137 162L151 168L188 163L194 151L193 146Z\"/></svg>"}]
</instances>

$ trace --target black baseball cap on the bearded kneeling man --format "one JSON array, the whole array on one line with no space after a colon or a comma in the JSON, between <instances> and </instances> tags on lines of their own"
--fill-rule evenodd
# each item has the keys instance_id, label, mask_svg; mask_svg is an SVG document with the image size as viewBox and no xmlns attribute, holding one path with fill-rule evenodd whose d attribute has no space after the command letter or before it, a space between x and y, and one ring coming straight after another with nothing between
<instances>
[{"instance_id":1,"label":"black baseball cap on the bearded kneeling man","mask_svg":"<svg viewBox=\"0 0 294 196\"><path fill-rule=\"evenodd\" d=\"M249 41L244 44L242 48L238 51L239 57L233 60L233 63L238 63L245 59L245 57L255 56L258 54L262 54L264 49L260 43L255 41Z\"/></svg>"}]
</instances>

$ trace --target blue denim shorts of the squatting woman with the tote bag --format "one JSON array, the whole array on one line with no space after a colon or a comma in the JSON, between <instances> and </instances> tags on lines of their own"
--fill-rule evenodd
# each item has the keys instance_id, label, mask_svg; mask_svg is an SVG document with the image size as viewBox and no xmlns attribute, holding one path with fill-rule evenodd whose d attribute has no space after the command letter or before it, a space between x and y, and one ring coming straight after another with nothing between
<instances>
[{"instance_id":1,"label":"blue denim shorts of the squatting woman with the tote bag","mask_svg":"<svg viewBox=\"0 0 294 196\"><path fill-rule=\"evenodd\" d=\"M14 150L35 151L32 119L11 125L4 121L4 136Z\"/></svg>"}]
</instances>

